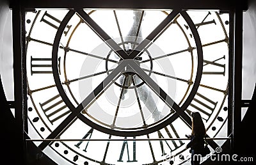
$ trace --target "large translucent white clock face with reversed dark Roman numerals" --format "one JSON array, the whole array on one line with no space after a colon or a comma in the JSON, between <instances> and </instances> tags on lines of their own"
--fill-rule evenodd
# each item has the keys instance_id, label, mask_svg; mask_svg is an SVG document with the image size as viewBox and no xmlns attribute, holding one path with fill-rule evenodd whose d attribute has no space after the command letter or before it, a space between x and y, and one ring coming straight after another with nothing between
<instances>
[{"instance_id":1,"label":"large translucent white clock face with reversed dark Roman numerals","mask_svg":"<svg viewBox=\"0 0 256 165\"><path fill-rule=\"evenodd\" d=\"M227 136L228 14L37 10L26 54L29 136L58 164L190 163L191 111Z\"/></svg>"}]
</instances>

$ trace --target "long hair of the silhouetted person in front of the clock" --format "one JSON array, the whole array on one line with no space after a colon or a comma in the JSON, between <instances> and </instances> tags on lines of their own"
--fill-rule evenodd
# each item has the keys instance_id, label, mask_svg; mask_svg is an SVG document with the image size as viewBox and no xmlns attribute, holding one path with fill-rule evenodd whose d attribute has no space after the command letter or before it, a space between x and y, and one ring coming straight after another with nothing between
<instances>
[{"instance_id":1,"label":"long hair of the silhouetted person in front of the clock","mask_svg":"<svg viewBox=\"0 0 256 165\"><path fill-rule=\"evenodd\" d=\"M192 112L192 135L193 136L205 136L205 126L202 120L201 114L198 112Z\"/></svg>"}]
</instances>

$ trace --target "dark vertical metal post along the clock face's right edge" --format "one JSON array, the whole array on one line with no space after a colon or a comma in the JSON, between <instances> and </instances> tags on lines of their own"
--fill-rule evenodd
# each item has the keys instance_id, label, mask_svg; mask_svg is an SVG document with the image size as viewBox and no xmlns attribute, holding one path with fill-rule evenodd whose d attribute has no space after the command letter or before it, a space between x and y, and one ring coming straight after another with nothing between
<instances>
[{"instance_id":1,"label":"dark vertical metal post along the clock face's right edge","mask_svg":"<svg viewBox=\"0 0 256 165\"><path fill-rule=\"evenodd\" d=\"M232 61L232 93L230 93L230 111L232 112L232 151L235 153L239 151L238 144L241 143L239 139L239 129L241 126L241 107L242 107L242 65L243 65L243 9L240 6L241 2L237 2L236 8L232 10L233 22L233 61Z\"/></svg>"}]
</instances>

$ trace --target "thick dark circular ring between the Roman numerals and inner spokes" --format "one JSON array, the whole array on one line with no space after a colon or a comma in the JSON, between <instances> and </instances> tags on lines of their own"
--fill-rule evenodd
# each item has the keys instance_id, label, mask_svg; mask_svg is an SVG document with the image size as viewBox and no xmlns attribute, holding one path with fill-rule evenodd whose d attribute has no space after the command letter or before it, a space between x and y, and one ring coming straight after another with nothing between
<instances>
[{"instance_id":1,"label":"thick dark circular ring between the Roman numerals and inner spokes","mask_svg":"<svg viewBox=\"0 0 256 165\"><path fill-rule=\"evenodd\" d=\"M52 74L54 76L54 81L55 81L56 87L58 88L58 91L61 95L61 98L63 99L63 101L65 102L67 107L70 109L70 111L75 111L76 107L72 104L72 102L67 97L67 95L63 89L63 86L61 84L61 81L60 81L60 77L58 74L58 48L60 45L61 35L63 34L63 31L64 31L65 27L67 26L68 21L72 18L72 16L75 13L76 12L74 10L70 10L67 13L67 15L65 15L64 19L61 21L60 27L58 28L58 31L56 33L56 36L54 38L54 43L52 46ZM191 89L191 92L188 95L188 98L185 100L184 104L182 104L182 106L180 107L180 111L184 112L187 109L187 107L189 106L189 104L192 102L193 98L195 97L196 91L198 90L198 87L200 85L200 81L201 81L201 77L202 77L202 70L203 70L203 51L202 51L202 43L200 40L200 36L198 35L198 31L196 30L195 24L189 17L188 13L186 13L185 11L182 11L182 12L180 12L180 14L186 20L189 28L192 31L192 34L195 38L196 51L198 54L198 58L197 58L198 66L197 66L197 70L196 70L195 83L193 85L193 88ZM143 130L129 130L129 131L128 130L124 130L124 131L114 130L114 129L108 129L106 127L102 127L102 126L98 125L97 123L94 123L90 119L86 118L86 116L84 116L81 113L79 113L77 115L77 118L79 118L79 120L83 121L84 123L86 123L87 125L92 127L93 129L99 130L100 132L104 132L106 134L112 134L114 136L132 137L132 136L142 136L145 134L150 134L152 132L156 132L156 130L166 127L167 125L169 125L170 123L175 121L177 118L179 118L179 114L174 113L168 119L164 120L163 122L161 122L153 127L149 127L147 129L143 129ZM68 123L67 123L67 125L68 125Z\"/></svg>"}]
</instances>

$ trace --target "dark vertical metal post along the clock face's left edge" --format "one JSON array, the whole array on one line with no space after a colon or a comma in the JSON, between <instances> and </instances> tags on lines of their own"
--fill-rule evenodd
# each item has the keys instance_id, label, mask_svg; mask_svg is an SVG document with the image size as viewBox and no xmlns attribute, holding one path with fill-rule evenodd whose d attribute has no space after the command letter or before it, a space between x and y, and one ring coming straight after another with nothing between
<instances>
[{"instance_id":1,"label":"dark vertical metal post along the clock face's left edge","mask_svg":"<svg viewBox=\"0 0 256 165\"><path fill-rule=\"evenodd\" d=\"M14 102L15 107L15 126L18 132L17 145L15 151L15 163L26 162L25 137L28 132L28 114L27 114L27 80L26 80L26 49L25 49L25 12L19 1L15 1L13 7L12 24L13 24L13 78L14 78Z\"/></svg>"}]
</instances>

